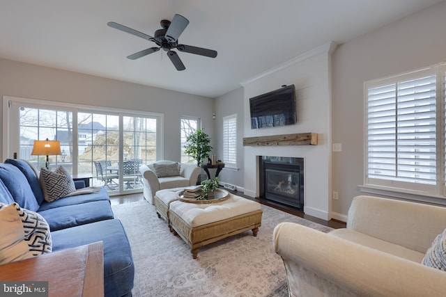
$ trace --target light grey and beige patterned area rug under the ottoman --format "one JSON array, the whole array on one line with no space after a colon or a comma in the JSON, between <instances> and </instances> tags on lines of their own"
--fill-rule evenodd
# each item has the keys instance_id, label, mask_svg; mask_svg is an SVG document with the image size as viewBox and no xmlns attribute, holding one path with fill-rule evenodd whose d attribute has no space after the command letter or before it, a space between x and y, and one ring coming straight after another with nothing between
<instances>
[{"instance_id":1,"label":"light grey and beige patterned area rug under the ottoman","mask_svg":"<svg viewBox=\"0 0 446 297\"><path fill-rule=\"evenodd\" d=\"M332 230L265 205L256 237L244 232L200 248L169 231L146 200L112 206L127 232L134 259L134 297L288 296L282 259L272 249L272 231L294 222L323 232Z\"/></svg>"}]
</instances>

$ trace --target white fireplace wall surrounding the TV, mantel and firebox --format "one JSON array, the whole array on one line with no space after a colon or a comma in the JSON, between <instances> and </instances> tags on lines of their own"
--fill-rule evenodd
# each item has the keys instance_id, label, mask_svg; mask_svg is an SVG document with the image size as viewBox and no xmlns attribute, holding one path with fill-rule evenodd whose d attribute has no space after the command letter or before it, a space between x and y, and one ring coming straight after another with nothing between
<instances>
[{"instance_id":1,"label":"white fireplace wall surrounding the TV, mantel and firebox","mask_svg":"<svg viewBox=\"0 0 446 297\"><path fill-rule=\"evenodd\" d=\"M242 83L244 88L244 137L314 132L318 145L244 147L245 195L259 197L257 156L292 156L305 159L305 214L329 220L331 208L331 54L330 42L288 63ZM251 129L249 98L295 85L297 123L284 127Z\"/></svg>"}]
</instances>

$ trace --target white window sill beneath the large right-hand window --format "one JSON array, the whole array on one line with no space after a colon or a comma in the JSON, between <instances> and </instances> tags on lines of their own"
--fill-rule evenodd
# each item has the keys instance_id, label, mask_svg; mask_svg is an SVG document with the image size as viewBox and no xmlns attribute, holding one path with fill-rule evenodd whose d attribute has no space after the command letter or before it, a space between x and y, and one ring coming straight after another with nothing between
<instances>
[{"instance_id":1,"label":"white window sill beneath the large right-hand window","mask_svg":"<svg viewBox=\"0 0 446 297\"><path fill-rule=\"evenodd\" d=\"M428 195L424 192L410 191L403 188L390 188L385 186L359 185L358 188L360 188L360 191L363 193L446 206L446 197L440 195Z\"/></svg>"}]
</instances>

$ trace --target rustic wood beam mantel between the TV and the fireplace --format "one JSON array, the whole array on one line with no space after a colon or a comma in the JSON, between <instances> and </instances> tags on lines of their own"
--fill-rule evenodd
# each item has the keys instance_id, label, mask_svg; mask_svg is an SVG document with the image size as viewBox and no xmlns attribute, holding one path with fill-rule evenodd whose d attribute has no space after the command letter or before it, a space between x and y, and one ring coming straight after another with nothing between
<instances>
[{"instance_id":1,"label":"rustic wood beam mantel between the TV and the fireplace","mask_svg":"<svg viewBox=\"0 0 446 297\"><path fill-rule=\"evenodd\" d=\"M317 133L298 133L243 138L243 146L317 145Z\"/></svg>"}]
</instances>

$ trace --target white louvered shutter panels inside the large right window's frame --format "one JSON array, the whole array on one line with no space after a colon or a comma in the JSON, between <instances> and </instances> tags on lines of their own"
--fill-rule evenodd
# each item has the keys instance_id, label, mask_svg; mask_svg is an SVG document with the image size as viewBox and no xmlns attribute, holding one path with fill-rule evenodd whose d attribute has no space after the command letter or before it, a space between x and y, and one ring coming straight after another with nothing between
<instances>
[{"instance_id":1,"label":"white louvered shutter panels inside the large right window's frame","mask_svg":"<svg viewBox=\"0 0 446 297\"><path fill-rule=\"evenodd\" d=\"M367 178L435 185L436 165L436 75L368 88Z\"/></svg>"}]
</instances>

